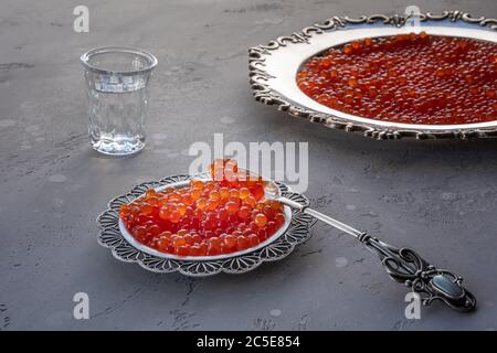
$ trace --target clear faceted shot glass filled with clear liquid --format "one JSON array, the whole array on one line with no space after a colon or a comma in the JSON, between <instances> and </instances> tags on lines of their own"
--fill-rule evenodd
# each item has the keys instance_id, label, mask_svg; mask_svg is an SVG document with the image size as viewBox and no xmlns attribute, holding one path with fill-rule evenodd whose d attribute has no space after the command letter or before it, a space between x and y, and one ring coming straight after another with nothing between
<instances>
[{"instance_id":1,"label":"clear faceted shot glass filled with clear liquid","mask_svg":"<svg viewBox=\"0 0 497 353\"><path fill-rule=\"evenodd\" d=\"M127 156L145 147L148 83L157 58L131 47L94 49L81 56L88 96L89 143Z\"/></svg>"}]
</instances>

